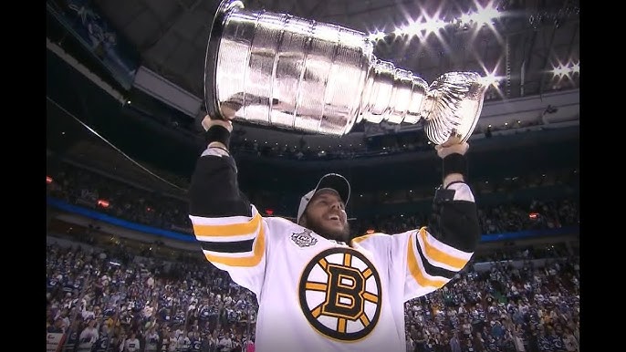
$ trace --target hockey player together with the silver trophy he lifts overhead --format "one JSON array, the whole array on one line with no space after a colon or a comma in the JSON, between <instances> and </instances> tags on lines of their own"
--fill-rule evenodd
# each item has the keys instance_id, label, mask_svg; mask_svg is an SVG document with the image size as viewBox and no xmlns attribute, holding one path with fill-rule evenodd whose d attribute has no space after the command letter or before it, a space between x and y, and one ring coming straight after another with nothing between
<instances>
[{"instance_id":1,"label":"hockey player together with the silver trophy he lifts overhead","mask_svg":"<svg viewBox=\"0 0 626 352\"><path fill-rule=\"evenodd\" d=\"M464 154L485 85L454 72L427 86L371 51L346 28L245 11L239 1L216 6L207 148L193 172L190 219L206 259L256 295L259 352L405 350L404 302L448 283L479 241ZM353 237L350 183L339 174L302 197L296 223L261 216L239 191L231 120L341 135L362 119L425 121L443 160L429 227Z\"/></svg>"}]
</instances>

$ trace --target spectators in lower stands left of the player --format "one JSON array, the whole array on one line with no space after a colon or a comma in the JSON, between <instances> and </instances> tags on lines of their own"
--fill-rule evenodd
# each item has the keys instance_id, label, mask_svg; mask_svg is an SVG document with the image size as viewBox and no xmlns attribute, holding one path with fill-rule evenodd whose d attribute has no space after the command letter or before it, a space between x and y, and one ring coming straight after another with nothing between
<instances>
[{"instance_id":1,"label":"spectators in lower stands left of the player","mask_svg":"<svg viewBox=\"0 0 626 352\"><path fill-rule=\"evenodd\" d=\"M65 351L241 350L256 303L225 272L123 255L48 244L47 332Z\"/></svg>"}]
</instances>

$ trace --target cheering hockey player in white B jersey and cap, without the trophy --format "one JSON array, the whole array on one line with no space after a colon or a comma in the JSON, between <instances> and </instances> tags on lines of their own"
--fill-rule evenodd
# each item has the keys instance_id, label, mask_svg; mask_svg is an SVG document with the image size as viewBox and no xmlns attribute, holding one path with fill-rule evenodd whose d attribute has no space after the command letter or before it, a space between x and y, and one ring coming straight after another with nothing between
<instances>
[{"instance_id":1,"label":"cheering hockey player in white B jersey and cap, without the trophy","mask_svg":"<svg viewBox=\"0 0 626 352\"><path fill-rule=\"evenodd\" d=\"M338 174L306 193L297 223L263 217L239 191L229 121L203 119L208 147L190 189L203 254L258 300L259 352L405 350L404 302L445 285L480 237L465 183L467 143L437 146L443 184L438 221L405 233L350 237L350 184Z\"/></svg>"}]
</instances>

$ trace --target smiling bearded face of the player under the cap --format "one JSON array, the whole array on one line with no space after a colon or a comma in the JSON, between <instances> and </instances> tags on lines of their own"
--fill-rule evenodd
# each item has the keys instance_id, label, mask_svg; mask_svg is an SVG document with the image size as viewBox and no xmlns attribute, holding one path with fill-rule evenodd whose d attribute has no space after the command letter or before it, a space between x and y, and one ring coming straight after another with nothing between
<instances>
[{"instance_id":1,"label":"smiling bearded face of the player under the cap","mask_svg":"<svg viewBox=\"0 0 626 352\"><path fill-rule=\"evenodd\" d=\"M339 193L330 189L319 190L313 195L300 224L329 240L348 242L350 239L345 204Z\"/></svg>"}]
</instances>

